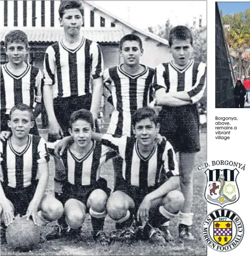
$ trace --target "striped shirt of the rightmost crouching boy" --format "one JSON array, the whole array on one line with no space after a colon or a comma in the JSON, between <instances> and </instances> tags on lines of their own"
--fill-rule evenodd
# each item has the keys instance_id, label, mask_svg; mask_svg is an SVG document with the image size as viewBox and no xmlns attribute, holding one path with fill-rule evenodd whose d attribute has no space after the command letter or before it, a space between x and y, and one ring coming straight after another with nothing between
<instances>
[{"instance_id":1,"label":"striped shirt of the rightmost crouching boy","mask_svg":"<svg viewBox=\"0 0 250 256\"><path fill-rule=\"evenodd\" d=\"M174 149L165 139L155 145L146 158L140 154L136 138L125 135L115 138L111 134L105 134L101 143L124 159L123 178L133 186L157 186L165 179L179 175Z\"/></svg>"}]
</instances>

